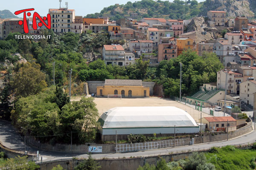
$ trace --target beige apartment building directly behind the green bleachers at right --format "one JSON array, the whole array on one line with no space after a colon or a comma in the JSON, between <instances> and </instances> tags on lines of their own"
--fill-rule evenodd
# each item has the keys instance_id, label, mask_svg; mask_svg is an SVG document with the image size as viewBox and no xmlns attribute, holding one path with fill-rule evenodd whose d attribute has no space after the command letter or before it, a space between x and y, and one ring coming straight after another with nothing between
<instances>
[{"instance_id":1,"label":"beige apartment building directly behind the green bleachers at right","mask_svg":"<svg viewBox=\"0 0 256 170\"><path fill-rule=\"evenodd\" d=\"M221 70L217 73L217 88L224 90L227 86L227 94L239 94L240 82L243 82L243 74L239 73L239 71Z\"/></svg>"}]
</instances>

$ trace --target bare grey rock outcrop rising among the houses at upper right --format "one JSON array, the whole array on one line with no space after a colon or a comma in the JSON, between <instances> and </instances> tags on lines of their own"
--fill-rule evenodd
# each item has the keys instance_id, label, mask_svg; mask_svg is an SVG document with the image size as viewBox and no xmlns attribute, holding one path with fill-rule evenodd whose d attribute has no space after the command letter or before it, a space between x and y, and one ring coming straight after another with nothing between
<instances>
[{"instance_id":1,"label":"bare grey rock outcrop rising among the houses at upper right","mask_svg":"<svg viewBox=\"0 0 256 170\"><path fill-rule=\"evenodd\" d=\"M189 23L187 27L187 32L196 31L196 43L214 39L214 35L212 33L207 32L206 34L202 34L202 32L204 32L205 26L207 25L204 22L204 17L194 17Z\"/></svg>"}]
</instances>

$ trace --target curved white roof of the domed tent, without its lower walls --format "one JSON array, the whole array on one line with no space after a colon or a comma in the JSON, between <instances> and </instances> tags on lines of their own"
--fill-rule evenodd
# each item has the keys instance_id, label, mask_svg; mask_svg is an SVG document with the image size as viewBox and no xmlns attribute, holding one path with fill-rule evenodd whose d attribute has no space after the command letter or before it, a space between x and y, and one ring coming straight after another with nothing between
<instances>
[{"instance_id":1,"label":"curved white roof of the domed tent, without its lower walls","mask_svg":"<svg viewBox=\"0 0 256 170\"><path fill-rule=\"evenodd\" d=\"M173 106L112 108L99 122L103 128L198 126L187 112Z\"/></svg>"}]
</instances>

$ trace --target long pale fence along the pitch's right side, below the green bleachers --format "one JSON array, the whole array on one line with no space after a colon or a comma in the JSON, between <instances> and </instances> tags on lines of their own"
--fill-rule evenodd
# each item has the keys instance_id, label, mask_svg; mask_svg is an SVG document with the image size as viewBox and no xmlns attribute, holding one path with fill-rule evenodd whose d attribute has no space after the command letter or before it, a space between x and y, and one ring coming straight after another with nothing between
<instances>
[{"instance_id":1,"label":"long pale fence along the pitch's right side, below the green bleachers","mask_svg":"<svg viewBox=\"0 0 256 170\"><path fill-rule=\"evenodd\" d=\"M173 97L173 99L177 102L180 102L180 98L178 98L178 97ZM224 115L224 112L222 112L222 111L215 111L214 108L212 108L212 109L211 108L203 108L202 106L190 104L189 102L186 102L185 99L181 99L180 103L182 103L183 105L189 106L190 108L193 108L195 110L210 114L212 116L230 116L227 113L225 113L225 115Z\"/></svg>"}]
</instances>

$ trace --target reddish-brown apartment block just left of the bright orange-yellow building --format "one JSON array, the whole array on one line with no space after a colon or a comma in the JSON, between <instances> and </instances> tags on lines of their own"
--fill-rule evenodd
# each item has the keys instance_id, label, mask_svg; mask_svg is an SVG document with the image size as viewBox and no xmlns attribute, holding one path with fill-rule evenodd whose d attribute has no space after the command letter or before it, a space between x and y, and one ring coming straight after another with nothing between
<instances>
[{"instance_id":1,"label":"reddish-brown apartment block just left of the bright orange-yellow building","mask_svg":"<svg viewBox=\"0 0 256 170\"><path fill-rule=\"evenodd\" d=\"M158 44L157 62L177 57L177 45Z\"/></svg>"}]
</instances>

